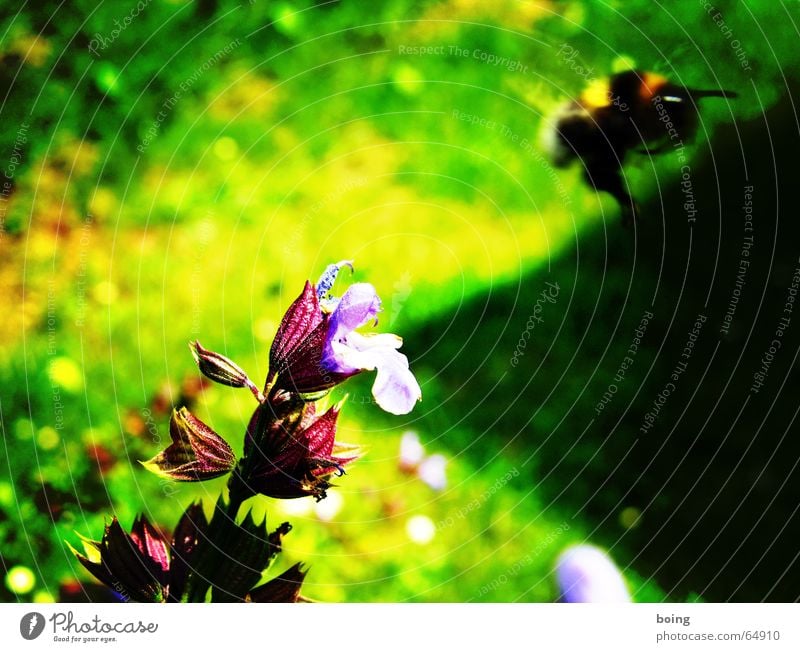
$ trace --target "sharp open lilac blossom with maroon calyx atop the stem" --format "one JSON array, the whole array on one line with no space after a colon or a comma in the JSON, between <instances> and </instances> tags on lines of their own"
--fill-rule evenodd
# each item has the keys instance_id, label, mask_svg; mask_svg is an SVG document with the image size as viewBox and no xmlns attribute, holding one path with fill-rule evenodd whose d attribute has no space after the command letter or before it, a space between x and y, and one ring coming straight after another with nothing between
<instances>
[{"instance_id":1,"label":"sharp open lilac blossom with maroon calyx atop the stem","mask_svg":"<svg viewBox=\"0 0 800 652\"><path fill-rule=\"evenodd\" d=\"M422 397L408 359L397 349L403 340L389 333L356 329L377 323L381 301L369 283L355 283L341 299L329 296L343 261L328 266L316 290L303 294L281 322L270 351L267 384L300 394L324 392L362 371L377 371L372 394L392 414L407 414Z\"/></svg>"}]
</instances>

